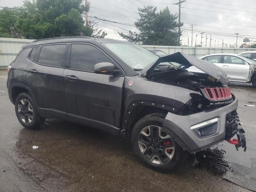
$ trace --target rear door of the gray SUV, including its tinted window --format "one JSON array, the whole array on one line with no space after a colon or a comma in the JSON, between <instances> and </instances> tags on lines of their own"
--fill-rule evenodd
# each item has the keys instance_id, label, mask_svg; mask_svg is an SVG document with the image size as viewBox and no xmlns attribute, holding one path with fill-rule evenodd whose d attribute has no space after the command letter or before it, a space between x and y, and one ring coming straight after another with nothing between
<instances>
[{"instance_id":1,"label":"rear door of the gray SUV, including its tinted window","mask_svg":"<svg viewBox=\"0 0 256 192\"><path fill-rule=\"evenodd\" d=\"M28 86L36 93L39 112L61 118L66 118L62 75L67 50L68 44L40 46L25 75Z\"/></svg>"}]
</instances>

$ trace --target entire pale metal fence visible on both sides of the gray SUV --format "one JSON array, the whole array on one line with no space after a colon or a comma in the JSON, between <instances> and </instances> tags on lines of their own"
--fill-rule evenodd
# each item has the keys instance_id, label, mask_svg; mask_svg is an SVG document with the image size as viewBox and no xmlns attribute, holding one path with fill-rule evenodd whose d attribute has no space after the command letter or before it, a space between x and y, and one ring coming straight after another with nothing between
<instances>
[{"instance_id":1,"label":"entire pale metal fence visible on both sides of the gray SUV","mask_svg":"<svg viewBox=\"0 0 256 192\"><path fill-rule=\"evenodd\" d=\"M0 38L0 68L7 66L16 58L21 47L34 40L31 39L14 39ZM241 53L244 51L256 50L256 48L207 48L207 47L182 47L182 46L153 46L143 45L144 48L150 50L161 50L166 54L176 52L184 52L186 54L200 57L214 53Z\"/></svg>"}]
</instances>

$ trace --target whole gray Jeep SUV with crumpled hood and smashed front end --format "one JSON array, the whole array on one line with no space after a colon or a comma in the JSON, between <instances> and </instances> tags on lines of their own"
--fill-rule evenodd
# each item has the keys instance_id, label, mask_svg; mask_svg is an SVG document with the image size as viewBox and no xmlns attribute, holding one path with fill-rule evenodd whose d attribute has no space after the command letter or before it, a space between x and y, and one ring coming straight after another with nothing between
<instances>
[{"instance_id":1,"label":"whole gray Jeep SUV with crumpled hood and smashed front end","mask_svg":"<svg viewBox=\"0 0 256 192\"><path fill-rule=\"evenodd\" d=\"M189 72L190 66L205 74ZM121 134L142 162L162 172L223 140L246 150L238 100L227 84L208 61L180 52L159 57L130 42L89 37L26 44L7 80L22 126L63 118Z\"/></svg>"}]
</instances>

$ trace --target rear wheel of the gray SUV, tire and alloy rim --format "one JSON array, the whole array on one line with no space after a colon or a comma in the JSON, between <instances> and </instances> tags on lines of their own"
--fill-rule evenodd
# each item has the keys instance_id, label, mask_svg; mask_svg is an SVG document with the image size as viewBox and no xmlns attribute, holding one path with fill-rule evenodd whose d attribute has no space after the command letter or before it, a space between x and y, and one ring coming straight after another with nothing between
<instances>
[{"instance_id":1,"label":"rear wheel of the gray SUV, tire and alloy rim","mask_svg":"<svg viewBox=\"0 0 256 192\"><path fill-rule=\"evenodd\" d=\"M17 96L15 112L20 124L27 129L37 129L44 124L45 118L39 115L32 97L26 92Z\"/></svg>"}]
</instances>

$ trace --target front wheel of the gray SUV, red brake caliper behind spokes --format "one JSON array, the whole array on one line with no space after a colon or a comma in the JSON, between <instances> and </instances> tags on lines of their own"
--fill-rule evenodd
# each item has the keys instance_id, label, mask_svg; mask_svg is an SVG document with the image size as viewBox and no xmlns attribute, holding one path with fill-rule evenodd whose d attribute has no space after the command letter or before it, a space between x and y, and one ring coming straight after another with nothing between
<instances>
[{"instance_id":1,"label":"front wheel of the gray SUV, red brake caliper behind spokes","mask_svg":"<svg viewBox=\"0 0 256 192\"><path fill-rule=\"evenodd\" d=\"M186 158L186 152L162 130L164 117L150 114L141 118L132 130L135 154L148 167L171 172Z\"/></svg>"}]
</instances>

